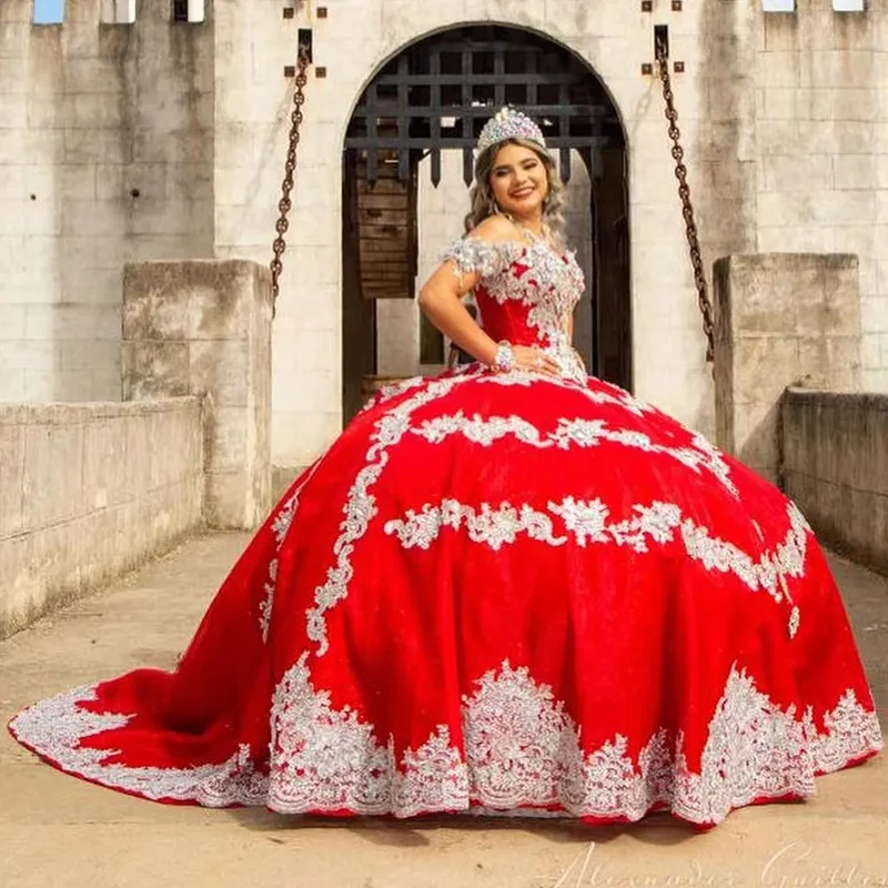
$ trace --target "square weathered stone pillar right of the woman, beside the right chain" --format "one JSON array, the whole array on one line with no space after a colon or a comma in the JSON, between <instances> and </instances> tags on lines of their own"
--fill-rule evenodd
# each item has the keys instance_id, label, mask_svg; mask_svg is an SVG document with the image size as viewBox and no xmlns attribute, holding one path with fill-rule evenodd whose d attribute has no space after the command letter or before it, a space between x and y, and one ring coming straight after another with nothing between
<instances>
[{"instance_id":1,"label":"square weathered stone pillar right of the woman, beside the right chain","mask_svg":"<svg viewBox=\"0 0 888 888\"><path fill-rule=\"evenodd\" d=\"M779 483L786 389L859 387L857 256L733 255L714 283L716 442Z\"/></svg>"}]
</instances>

